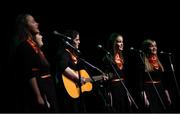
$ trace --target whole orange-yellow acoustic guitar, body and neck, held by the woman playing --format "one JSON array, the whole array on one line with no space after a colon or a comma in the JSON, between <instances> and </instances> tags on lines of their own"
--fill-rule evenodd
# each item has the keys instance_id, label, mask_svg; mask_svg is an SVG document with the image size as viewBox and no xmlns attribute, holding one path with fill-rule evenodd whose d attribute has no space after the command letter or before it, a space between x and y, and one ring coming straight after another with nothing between
<instances>
[{"instance_id":1,"label":"whole orange-yellow acoustic guitar, body and neck, held by the woman playing","mask_svg":"<svg viewBox=\"0 0 180 114\"><path fill-rule=\"evenodd\" d=\"M78 74L78 71L75 71ZM93 80L90 78L89 74L85 70L79 71L82 78L86 80L86 83L81 85L81 92L89 92L92 90L92 83L93 81L103 80L104 76L106 75L99 75L93 76ZM106 76L107 77L107 76ZM65 86L66 91L72 98L78 98L80 96L80 87L78 83L72 81L71 79L67 78L65 75L62 75L63 83Z\"/></svg>"}]
</instances>

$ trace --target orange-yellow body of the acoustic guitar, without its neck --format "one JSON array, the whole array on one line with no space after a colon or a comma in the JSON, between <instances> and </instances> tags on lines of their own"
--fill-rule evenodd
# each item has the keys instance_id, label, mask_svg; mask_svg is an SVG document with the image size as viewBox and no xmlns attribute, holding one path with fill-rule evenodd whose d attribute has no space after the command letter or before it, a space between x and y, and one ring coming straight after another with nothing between
<instances>
[{"instance_id":1,"label":"orange-yellow body of the acoustic guitar, without its neck","mask_svg":"<svg viewBox=\"0 0 180 114\"><path fill-rule=\"evenodd\" d=\"M88 73L85 70L80 70L79 72L83 78L90 78ZM78 71L76 71L76 73L78 74ZM72 98L78 98L80 96L79 85L77 83L75 83L74 81L70 80L69 78L67 78L65 75L62 75L62 79L63 79L63 83L64 83L64 86L65 86L68 94ZM81 86L81 92L82 93L85 91L91 91L91 90L92 90L92 83L91 82L86 82L85 84L83 84Z\"/></svg>"}]
</instances>

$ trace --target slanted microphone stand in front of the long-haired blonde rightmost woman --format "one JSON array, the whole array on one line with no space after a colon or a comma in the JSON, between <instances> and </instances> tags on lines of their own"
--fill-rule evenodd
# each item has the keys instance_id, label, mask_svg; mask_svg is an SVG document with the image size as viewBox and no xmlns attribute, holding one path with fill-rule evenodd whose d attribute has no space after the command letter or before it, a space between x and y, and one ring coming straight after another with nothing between
<instances>
[{"instance_id":1,"label":"slanted microphone stand in front of the long-haired blonde rightmost woman","mask_svg":"<svg viewBox=\"0 0 180 114\"><path fill-rule=\"evenodd\" d=\"M143 61L143 57L142 57L141 53L140 53L139 55L140 55L140 58L141 58L142 63L144 64L144 66L145 66L145 68L146 68L146 65L145 65L145 63L144 63L144 61ZM150 74L149 71L147 71L147 74L148 74L149 79L150 79L151 81L153 81L153 79L152 79L151 74ZM154 87L154 89L155 89L155 91L156 91L156 93L157 93L157 95L158 95L158 98L159 98L159 100L160 100L160 102L161 102L164 110L166 110L166 107L165 107L165 105L164 105L164 102L163 102L161 96L159 95L159 92L158 92L155 84L154 84L154 83L152 83L152 84L153 84L153 87Z\"/></svg>"}]
</instances>

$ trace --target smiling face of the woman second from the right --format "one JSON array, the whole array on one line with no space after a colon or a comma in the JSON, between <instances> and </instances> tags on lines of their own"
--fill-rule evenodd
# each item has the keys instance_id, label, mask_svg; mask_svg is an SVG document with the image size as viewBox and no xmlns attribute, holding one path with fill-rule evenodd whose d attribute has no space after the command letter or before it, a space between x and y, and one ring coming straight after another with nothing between
<instances>
[{"instance_id":1,"label":"smiling face of the woman second from the right","mask_svg":"<svg viewBox=\"0 0 180 114\"><path fill-rule=\"evenodd\" d=\"M115 41L115 48L120 50L120 51L122 51L123 47L124 47L123 37L122 36L118 36L116 38L116 41Z\"/></svg>"}]
</instances>

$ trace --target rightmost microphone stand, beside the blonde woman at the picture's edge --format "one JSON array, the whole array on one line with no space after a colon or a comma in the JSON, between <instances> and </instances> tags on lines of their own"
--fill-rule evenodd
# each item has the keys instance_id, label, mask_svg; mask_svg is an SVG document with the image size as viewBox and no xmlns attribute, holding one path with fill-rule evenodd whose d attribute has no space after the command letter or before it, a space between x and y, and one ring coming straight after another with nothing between
<instances>
[{"instance_id":1,"label":"rightmost microphone stand, beside the blonde woman at the picture's edge","mask_svg":"<svg viewBox=\"0 0 180 114\"><path fill-rule=\"evenodd\" d=\"M178 92L178 96L180 96L179 85L177 83L177 79L176 79L176 76L175 76L175 70L174 70L173 63L172 63L172 57L171 57L170 54L169 54L168 58L169 58L169 62L170 62L170 66L171 66L171 70L172 70L172 74L173 74L173 78L174 78L174 81L175 81L175 84L176 84L176 89L177 89L177 92Z\"/></svg>"}]
</instances>

